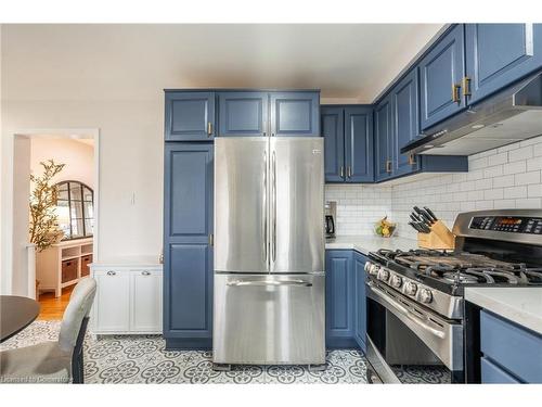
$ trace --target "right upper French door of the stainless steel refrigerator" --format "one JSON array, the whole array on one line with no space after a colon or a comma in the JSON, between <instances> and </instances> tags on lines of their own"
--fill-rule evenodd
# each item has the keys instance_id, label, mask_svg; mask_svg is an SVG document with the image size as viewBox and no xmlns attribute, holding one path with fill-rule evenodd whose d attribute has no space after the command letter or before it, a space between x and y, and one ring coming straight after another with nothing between
<instances>
[{"instance_id":1,"label":"right upper French door of the stainless steel refrigerator","mask_svg":"<svg viewBox=\"0 0 542 407\"><path fill-rule=\"evenodd\" d=\"M270 139L270 272L324 271L324 140Z\"/></svg>"}]
</instances>

